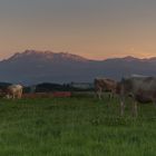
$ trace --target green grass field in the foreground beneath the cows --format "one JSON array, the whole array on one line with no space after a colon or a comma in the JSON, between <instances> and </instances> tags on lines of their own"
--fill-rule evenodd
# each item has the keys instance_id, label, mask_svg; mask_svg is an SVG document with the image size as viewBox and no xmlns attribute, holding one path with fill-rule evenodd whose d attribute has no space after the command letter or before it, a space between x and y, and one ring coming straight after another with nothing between
<instances>
[{"instance_id":1,"label":"green grass field in the foreground beneath the cows","mask_svg":"<svg viewBox=\"0 0 156 156\"><path fill-rule=\"evenodd\" d=\"M128 104L121 118L118 99L1 99L0 156L155 156L156 107Z\"/></svg>"}]
</instances>

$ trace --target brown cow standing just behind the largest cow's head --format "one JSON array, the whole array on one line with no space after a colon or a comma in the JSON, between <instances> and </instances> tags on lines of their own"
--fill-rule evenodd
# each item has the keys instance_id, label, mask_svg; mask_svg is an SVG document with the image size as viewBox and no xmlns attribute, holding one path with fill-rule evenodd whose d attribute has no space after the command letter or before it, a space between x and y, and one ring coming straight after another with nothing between
<instances>
[{"instance_id":1,"label":"brown cow standing just behind the largest cow's head","mask_svg":"<svg viewBox=\"0 0 156 156\"><path fill-rule=\"evenodd\" d=\"M101 99L103 91L110 91L110 98L116 94L117 82L109 78L96 78L95 81L95 91L99 99Z\"/></svg>"}]
</instances>

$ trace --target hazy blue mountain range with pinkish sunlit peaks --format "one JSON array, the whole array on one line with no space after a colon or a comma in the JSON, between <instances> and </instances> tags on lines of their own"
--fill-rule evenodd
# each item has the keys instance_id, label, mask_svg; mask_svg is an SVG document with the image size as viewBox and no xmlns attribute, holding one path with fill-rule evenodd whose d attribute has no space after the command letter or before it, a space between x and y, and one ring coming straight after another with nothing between
<instances>
[{"instance_id":1,"label":"hazy blue mountain range with pinkish sunlit peaks","mask_svg":"<svg viewBox=\"0 0 156 156\"><path fill-rule=\"evenodd\" d=\"M68 52L26 50L0 61L0 81L38 82L91 82L96 77L119 80L123 76L156 76L156 57L109 58L90 60Z\"/></svg>"}]
</instances>

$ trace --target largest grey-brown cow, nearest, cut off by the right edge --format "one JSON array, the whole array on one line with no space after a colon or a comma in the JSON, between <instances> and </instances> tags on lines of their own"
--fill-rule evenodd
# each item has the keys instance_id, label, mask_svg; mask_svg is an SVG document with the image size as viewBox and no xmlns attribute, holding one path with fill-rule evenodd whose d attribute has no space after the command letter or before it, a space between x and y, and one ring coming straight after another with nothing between
<instances>
[{"instance_id":1,"label":"largest grey-brown cow, nearest, cut off by the right edge","mask_svg":"<svg viewBox=\"0 0 156 156\"><path fill-rule=\"evenodd\" d=\"M137 116L137 103L156 103L156 77L131 76L123 78L118 85L120 95L120 115L124 115L125 98L133 98L133 115Z\"/></svg>"}]
</instances>

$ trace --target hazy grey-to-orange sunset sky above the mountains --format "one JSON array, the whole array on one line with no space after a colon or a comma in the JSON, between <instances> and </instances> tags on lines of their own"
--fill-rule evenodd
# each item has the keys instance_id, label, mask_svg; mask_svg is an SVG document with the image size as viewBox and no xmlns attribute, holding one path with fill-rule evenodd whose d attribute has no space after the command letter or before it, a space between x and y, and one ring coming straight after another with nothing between
<instances>
[{"instance_id":1,"label":"hazy grey-to-orange sunset sky above the mountains","mask_svg":"<svg viewBox=\"0 0 156 156\"><path fill-rule=\"evenodd\" d=\"M156 57L156 0L0 0L0 59L26 49Z\"/></svg>"}]
</instances>

